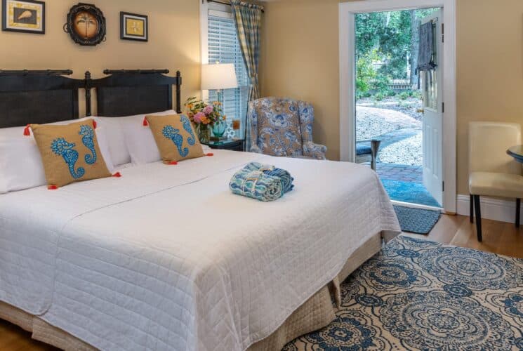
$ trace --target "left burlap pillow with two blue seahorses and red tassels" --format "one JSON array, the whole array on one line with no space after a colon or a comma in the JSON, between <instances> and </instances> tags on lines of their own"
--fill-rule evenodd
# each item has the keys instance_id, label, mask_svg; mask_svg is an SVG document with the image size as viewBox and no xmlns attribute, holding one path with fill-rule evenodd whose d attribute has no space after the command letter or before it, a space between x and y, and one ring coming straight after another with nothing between
<instances>
[{"instance_id":1,"label":"left burlap pillow with two blue seahorses and red tassels","mask_svg":"<svg viewBox=\"0 0 523 351\"><path fill-rule=\"evenodd\" d=\"M65 126L32 124L48 187L110 177L93 119Z\"/></svg>"}]
</instances>

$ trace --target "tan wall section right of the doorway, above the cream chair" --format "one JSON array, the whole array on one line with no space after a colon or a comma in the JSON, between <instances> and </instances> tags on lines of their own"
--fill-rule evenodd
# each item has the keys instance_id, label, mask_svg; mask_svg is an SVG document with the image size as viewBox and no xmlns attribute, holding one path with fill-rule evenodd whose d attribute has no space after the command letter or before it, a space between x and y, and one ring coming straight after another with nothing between
<instances>
[{"instance_id":1,"label":"tan wall section right of the doorway, above the cream chair","mask_svg":"<svg viewBox=\"0 0 523 351\"><path fill-rule=\"evenodd\" d=\"M468 194L468 122L523 124L523 1L458 0L458 193Z\"/></svg>"}]
</instances>

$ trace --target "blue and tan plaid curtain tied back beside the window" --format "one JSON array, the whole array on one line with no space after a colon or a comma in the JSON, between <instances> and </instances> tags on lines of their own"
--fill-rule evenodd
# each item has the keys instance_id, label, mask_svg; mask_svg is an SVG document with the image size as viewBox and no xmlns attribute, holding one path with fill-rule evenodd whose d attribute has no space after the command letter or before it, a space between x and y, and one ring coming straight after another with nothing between
<instances>
[{"instance_id":1,"label":"blue and tan plaid curtain tied back beside the window","mask_svg":"<svg viewBox=\"0 0 523 351\"><path fill-rule=\"evenodd\" d=\"M252 101L260 98L258 59L260 56L260 27L263 8L239 0L232 0L231 6L241 54L244 57L247 74L251 79L249 101Z\"/></svg>"}]
</instances>

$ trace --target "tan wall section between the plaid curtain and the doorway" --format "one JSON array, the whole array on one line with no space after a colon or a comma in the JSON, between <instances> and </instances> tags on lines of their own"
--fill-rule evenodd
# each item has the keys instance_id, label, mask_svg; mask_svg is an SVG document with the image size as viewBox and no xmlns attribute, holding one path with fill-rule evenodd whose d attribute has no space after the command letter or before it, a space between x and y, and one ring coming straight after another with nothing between
<instances>
[{"instance_id":1,"label":"tan wall section between the plaid curtain and the doorway","mask_svg":"<svg viewBox=\"0 0 523 351\"><path fill-rule=\"evenodd\" d=\"M329 159L339 159L338 0L264 6L261 93L312 102L315 142L329 147Z\"/></svg>"}]
</instances>

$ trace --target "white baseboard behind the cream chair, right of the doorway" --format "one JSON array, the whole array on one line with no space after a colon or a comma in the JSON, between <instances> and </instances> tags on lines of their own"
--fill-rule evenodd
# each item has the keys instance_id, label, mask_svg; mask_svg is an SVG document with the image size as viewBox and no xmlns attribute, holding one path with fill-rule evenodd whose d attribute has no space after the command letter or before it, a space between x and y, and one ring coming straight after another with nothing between
<instances>
[{"instance_id":1,"label":"white baseboard behind the cream chair, right of the doorway","mask_svg":"<svg viewBox=\"0 0 523 351\"><path fill-rule=\"evenodd\" d=\"M470 195L458 195L458 214L470 216ZM481 197L482 218L514 223L516 220L516 200L502 200ZM523 211L522 211L523 213ZM522 217L523 218L523 217Z\"/></svg>"}]
</instances>

